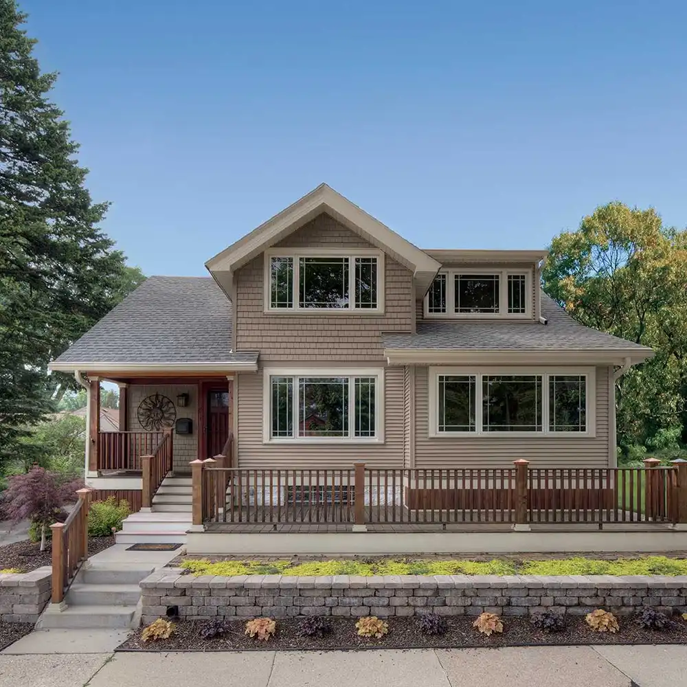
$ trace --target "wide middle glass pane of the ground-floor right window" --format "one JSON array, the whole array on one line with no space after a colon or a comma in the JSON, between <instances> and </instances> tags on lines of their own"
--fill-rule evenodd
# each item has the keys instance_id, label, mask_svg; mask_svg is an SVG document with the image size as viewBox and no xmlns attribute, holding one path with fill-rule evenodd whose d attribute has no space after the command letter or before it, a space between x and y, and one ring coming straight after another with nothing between
<instances>
[{"instance_id":1,"label":"wide middle glass pane of the ground-floor right window","mask_svg":"<svg viewBox=\"0 0 687 687\"><path fill-rule=\"evenodd\" d=\"M482 376L483 431L541 431L541 374Z\"/></svg>"}]
</instances>

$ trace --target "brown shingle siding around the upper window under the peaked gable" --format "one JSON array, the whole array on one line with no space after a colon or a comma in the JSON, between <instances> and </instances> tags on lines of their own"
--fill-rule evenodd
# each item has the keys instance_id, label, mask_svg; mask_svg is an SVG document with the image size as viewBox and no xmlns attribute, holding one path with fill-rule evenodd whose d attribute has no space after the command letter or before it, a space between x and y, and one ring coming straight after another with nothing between
<instances>
[{"instance_id":1,"label":"brown shingle siding around the upper window under the peaked gable","mask_svg":"<svg viewBox=\"0 0 687 687\"><path fill-rule=\"evenodd\" d=\"M326 214L282 241L280 247L352 250L372 245ZM261 363L274 361L383 361L382 333L412 333L412 273L385 258L383 315L264 313L264 256L236 273L237 350L259 350Z\"/></svg>"}]
</instances>

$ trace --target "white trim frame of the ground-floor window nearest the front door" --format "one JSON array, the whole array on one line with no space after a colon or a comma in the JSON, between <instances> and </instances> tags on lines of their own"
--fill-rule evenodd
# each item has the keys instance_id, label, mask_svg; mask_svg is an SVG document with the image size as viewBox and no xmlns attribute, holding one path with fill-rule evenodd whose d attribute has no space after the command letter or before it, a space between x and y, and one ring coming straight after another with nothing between
<instances>
[{"instance_id":1,"label":"white trim frame of the ground-floor window nearest the front door","mask_svg":"<svg viewBox=\"0 0 687 687\"><path fill-rule=\"evenodd\" d=\"M354 393L351 392L353 377L375 377L374 385L374 437L351 436L271 436L272 409L270 377L348 377L348 417L351 427L354 426ZM293 426L298 425L298 382L293 386ZM262 371L262 443L263 444L383 444L384 442L384 368L263 368Z\"/></svg>"}]
</instances>

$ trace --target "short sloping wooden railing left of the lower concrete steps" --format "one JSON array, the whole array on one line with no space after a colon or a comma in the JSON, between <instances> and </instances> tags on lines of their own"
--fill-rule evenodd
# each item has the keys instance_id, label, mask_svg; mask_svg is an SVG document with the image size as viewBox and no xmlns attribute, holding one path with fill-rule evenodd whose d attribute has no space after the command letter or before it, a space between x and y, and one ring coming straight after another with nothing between
<instances>
[{"instance_id":1,"label":"short sloping wooden railing left of the lower concrete steps","mask_svg":"<svg viewBox=\"0 0 687 687\"><path fill-rule=\"evenodd\" d=\"M88 558L88 511L91 490L79 489L78 501L64 522L50 526L52 530L52 602L65 598L81 564Z\"/></svg>"}]
</instances>

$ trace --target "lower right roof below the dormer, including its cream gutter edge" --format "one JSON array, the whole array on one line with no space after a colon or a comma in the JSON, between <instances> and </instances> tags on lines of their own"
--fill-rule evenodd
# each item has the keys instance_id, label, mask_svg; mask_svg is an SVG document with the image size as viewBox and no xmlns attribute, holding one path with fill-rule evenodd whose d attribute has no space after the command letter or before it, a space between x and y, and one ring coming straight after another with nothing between
<instances>
[{"instance_id":1,"label":"lower right roof below the dormer, including its cream gutter edge","mask_svg":"<svg viewBox=\"0 0 687 687\"><path fill-rule=\"evenodd\" d=\"M653 356L653 350L619 339L576 322L548 295L541 293L539 322L418 322L416 334L385 335L385 355L390 362L497 361L499 355L513 362L577 362L622 364L629 358L638 363ZM482 360L484 358L484 360ZM467 358L466 358L467 360Z\"/></svg>"}]
</instances>

